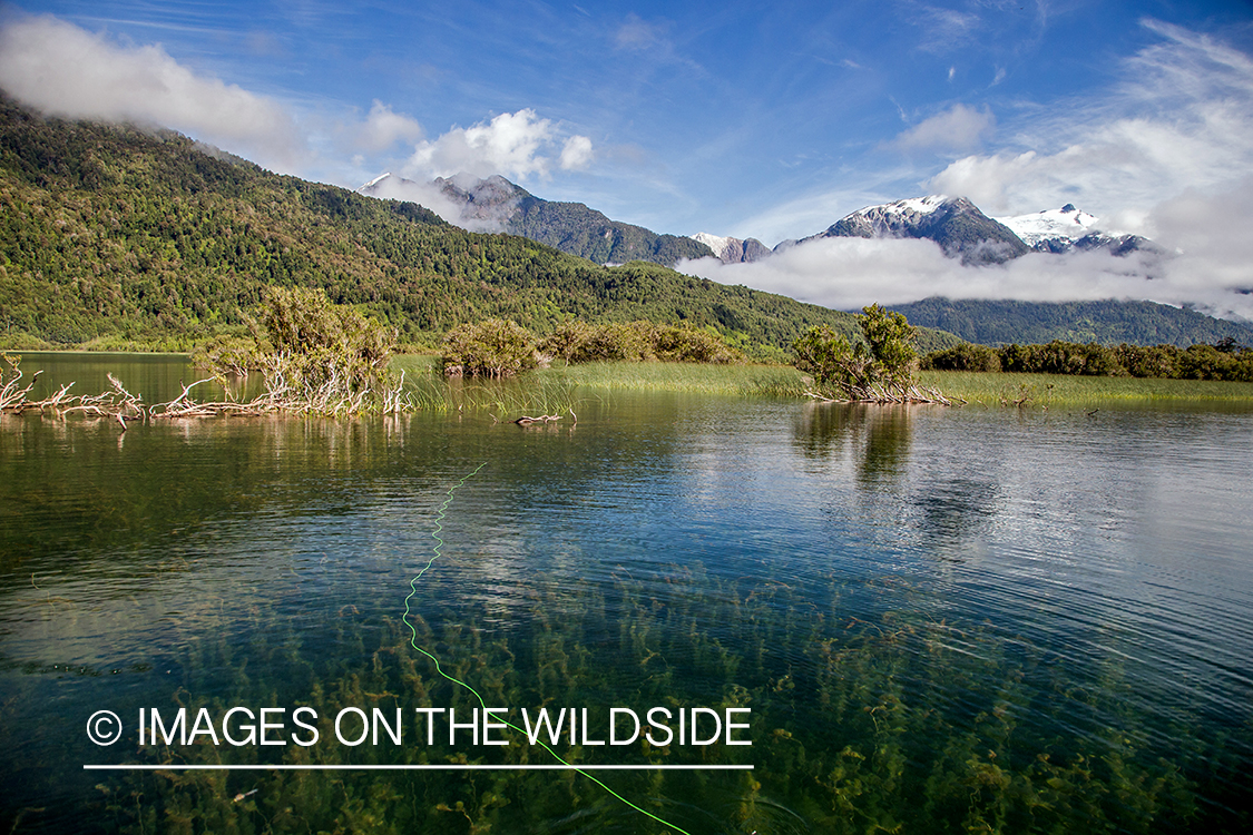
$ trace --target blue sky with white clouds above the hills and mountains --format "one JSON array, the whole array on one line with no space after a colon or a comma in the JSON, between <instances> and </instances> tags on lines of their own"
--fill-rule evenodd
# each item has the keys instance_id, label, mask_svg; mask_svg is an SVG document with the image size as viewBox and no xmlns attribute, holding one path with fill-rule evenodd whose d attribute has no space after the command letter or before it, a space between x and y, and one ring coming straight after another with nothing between
<instances>
[{"instance_id":1,"label":"blue sky with white clouds above the hills and mountains","mask_svg":"<svg viewBox=\"0 0 1253 835\"><path fill-rule=\"evenodd\" d=\"M500 173L674 234L773 245L961 193L1187 240L1253 177L1248 0L0 9L0 85L45 111L350 188Z\"/></svg>"}]
</instances>

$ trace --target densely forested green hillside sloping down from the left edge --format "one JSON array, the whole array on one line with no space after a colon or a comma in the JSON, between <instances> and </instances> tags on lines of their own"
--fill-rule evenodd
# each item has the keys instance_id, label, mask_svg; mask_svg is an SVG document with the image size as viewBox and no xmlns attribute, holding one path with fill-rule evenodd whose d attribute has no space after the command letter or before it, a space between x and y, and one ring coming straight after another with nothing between
<instances>
[{"instance_id":1,"label":"densely forested green hillside sloping down from the left edge","mask_svg":"<svg viewBox=\"0 0 1253 835\"><path fill-rule=\"evenodd\" d=\"M571 319L710 328L774 358L813 325L857 329L847 313L655 264L599 267L174 133L44 119L0 96L0 346L187 349L242 330L268 285L323 289L419 346L491 317L540 334Z\"/></svg>"}]
</instances>

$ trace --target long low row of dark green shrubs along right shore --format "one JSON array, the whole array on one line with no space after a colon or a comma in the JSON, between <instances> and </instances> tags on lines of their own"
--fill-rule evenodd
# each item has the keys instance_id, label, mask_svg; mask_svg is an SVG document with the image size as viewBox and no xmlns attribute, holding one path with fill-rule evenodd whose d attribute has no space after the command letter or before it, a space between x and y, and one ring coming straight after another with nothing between
<instances>
[{"instance_id":1,"label":"long low row of dark green shrubs along right shore","mask_svg":"<svg viewBox=\"0 0 1253 835\"><path fill-rule=\"evenodd\" d=\"M1000 348L962 344L922 358L923 369L1030 372L1088 377L1162 377L1253 382L1253 349L1224 341L1214 346L1099 346L1054 339Z\"/></svg>"}]
</instances>

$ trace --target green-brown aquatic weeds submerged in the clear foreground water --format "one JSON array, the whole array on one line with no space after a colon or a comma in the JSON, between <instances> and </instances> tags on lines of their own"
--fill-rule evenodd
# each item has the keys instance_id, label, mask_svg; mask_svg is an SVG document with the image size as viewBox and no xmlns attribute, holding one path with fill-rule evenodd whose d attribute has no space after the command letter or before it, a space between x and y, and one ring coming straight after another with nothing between
<instances>
[{"instance_id":1,"label":"green-brown aquatic weeds submerged in the clear foreground water","mask_svg":"<svg viewBox=\"0 0 1253 835\"><path fill-rule=\"evenodd\" d=\"M449 602L449 582L432 577L422 590L413 640L437 647L449 675L472 682L487 704L626 699L637 706L752 709L752 747L640 742L606 751L564 739L558 746L575 764L752 762L749 774L605 777L689 831L771 831L796 819L792 830L824 832L1150 832L1213 822L1217 811L1199 805L1198 781L1222 756L1222 744L1180 751L1146 736L1135 701L1125 699L1133 685L1116 662L1096 663L1094 686L1076 689L1055 652L987 625L907 608L886 608L873 620L845 613L846 602L866 595L907 602L911 592L900 582L876 588L832 577L819 606L781 582L718 581L672 566L668 582L682 593L665 606L625 572L608 590L536 585L514 612L524 627L510 630L489 626L487 612L472 616ZM205 692L208 671L233 670L221 704L309 705L326 735L327 717L341 706L476 705L412 650L397 617L345 611L333 625L333 660L274 626L259 628L246 653L199 633L197 663L180 692ZM1056 729L1068 725L1075 732L1060 736ZM514 742L469 755L440 740L287 746L273 761L523 765L544 756ZM217 762L222 751L194 746L139 757ZM242 751L231 761L258 757ZM654 831L569 772L168 772L113 780L105 790L124 831L189 830L193 821L242 832L574 831L571 821L586 822L588 815L599 829Z\"/></svg>"}]
</instances>

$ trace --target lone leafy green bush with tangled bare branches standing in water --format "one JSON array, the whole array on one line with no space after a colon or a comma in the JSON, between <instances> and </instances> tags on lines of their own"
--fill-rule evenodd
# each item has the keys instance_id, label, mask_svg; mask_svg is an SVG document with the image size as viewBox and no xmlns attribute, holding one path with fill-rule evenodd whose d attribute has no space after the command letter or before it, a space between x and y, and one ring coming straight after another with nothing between
<instances>
[{"instance_id":1,"label":"lone leafy green bush with tangled bare branches standing in water","mask_svg":"<svg viewBox=\"0 0 1253 835\"><path fill-rule=\"evenodd\" d=\"M862 308L865 342L850 342L826 325L796 341L793 364L813 381L807 397L866 403L944 403L951 401L915 378L915 329L900 313L877 304Z\"/></svg>"}]
</instances>

